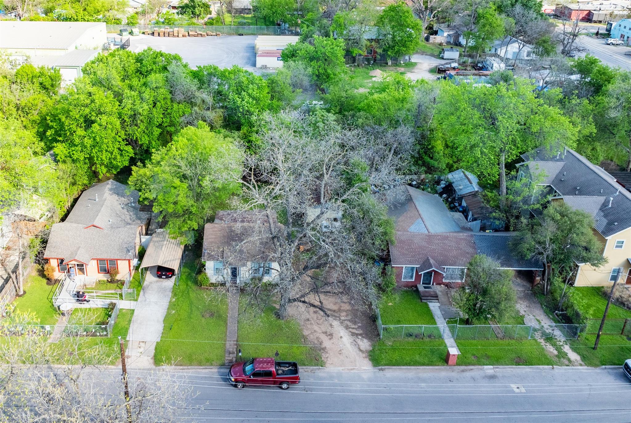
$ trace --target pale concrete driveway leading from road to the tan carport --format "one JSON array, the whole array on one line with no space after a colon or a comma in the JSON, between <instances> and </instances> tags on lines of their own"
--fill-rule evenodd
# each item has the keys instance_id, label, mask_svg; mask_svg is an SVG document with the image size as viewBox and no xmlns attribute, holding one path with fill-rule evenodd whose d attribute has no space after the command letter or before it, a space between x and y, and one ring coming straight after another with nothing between
<instances>
[{"instance_id":1,"label":"pale concrete driveway leading from road to the tan carport","mask_svg":"<svg viewBox=\"0 0 631 423\"><path fill-rule=\"evenodd\" d=\"M162 336L164 318L175 279L158 279L155 268L147 272L143 290L136 301L134 316L127 335L129 368L153 367L156 342Z\"/></svg>"}]
</instances>

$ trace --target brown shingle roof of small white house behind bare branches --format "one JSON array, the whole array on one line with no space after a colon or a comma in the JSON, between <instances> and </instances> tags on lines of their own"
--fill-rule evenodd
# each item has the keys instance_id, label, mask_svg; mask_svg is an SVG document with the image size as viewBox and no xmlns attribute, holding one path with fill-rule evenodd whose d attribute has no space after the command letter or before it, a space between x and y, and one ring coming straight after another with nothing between
<instances>
[{"instance_id":1,"label":"brown shingle roof of small white house behind bare branches","mask_svg":"<svg viewBox=\"0 0 631 423\"><path fill-rule=\"evenodd\" d=\"M228 260L233 265L268 262L273 245L263 212L220 211L204 226L202 260ZM273 224L281 226L273 217Z\"/></svg>"}]
</instances>

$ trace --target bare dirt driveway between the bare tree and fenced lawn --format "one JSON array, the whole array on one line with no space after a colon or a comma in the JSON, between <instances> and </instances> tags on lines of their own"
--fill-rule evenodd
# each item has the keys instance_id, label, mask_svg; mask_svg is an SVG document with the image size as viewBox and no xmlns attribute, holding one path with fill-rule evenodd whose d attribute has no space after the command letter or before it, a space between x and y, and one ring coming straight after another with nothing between
<instances>
[{"instance_id":1,"label":"bare dirt driveway between the bare tree and fenced lawn","mask_svg":"<svg viewBox=\"0 0 631 423\"><path fill-rule=\"evenodd\" d=\"M300 322L312 345L322 345L327 368L372 368L368 353L377 339L377 326L367 310L358 310L345 299L322 296L329 317L305 304L290 306L290 316ZM314 299L309 299L314 301Z\"/></svg>"}]
</instances>

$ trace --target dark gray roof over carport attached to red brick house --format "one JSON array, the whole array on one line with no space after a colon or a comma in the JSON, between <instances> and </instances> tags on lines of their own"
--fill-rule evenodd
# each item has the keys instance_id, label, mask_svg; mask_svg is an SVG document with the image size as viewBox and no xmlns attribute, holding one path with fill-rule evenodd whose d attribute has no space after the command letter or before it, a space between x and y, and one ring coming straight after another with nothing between
<instances>
[{"instance_id":1,"label":"dark gray roof over carport attached to red brick house","mask_svg":"<svg viewBox=\"0 0 631 423\"><path fill-rule=\"evenodd\" d=\"M507 269L543 269L538 260L519 257L513 253L510 242L514 232L477 232L473 234L478 254L487 255Z\"/></svg>"}]
</instances>

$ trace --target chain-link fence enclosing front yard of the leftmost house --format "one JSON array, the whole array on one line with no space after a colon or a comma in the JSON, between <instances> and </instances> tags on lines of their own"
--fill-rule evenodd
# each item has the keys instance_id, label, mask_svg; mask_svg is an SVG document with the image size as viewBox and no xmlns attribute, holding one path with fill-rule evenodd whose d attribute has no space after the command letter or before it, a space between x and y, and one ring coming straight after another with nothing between
<instances>
[{"instance_id":1,"label":"chain-link fence enclosing front yard of the leftmost house","mask_svg":"<svg viewBox=\"0 0 631 423\"><path fill-rule=\"evenodd\" d=\"M56 328L59 327L66 336L109 337L112 335L112 329L114 328L120 310L119 304L115 304L106 325L0 325L0 336L50 336L55 332Z\"/></svg>"}]
</instances>

